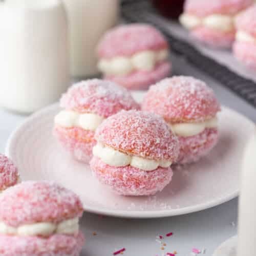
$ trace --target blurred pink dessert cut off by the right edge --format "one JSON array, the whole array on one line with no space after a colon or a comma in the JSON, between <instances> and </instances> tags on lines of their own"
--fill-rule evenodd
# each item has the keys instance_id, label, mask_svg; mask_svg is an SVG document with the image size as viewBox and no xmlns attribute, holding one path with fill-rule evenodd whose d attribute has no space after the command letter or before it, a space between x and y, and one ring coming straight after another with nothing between
<instances>
[{"instance_id":1,"label":"blurred pink dessert cut off by the right edge","mask_svg":"<svg viewBox=\"0 0 256 256\"><path fill-rule=\"evenodd\" d=\"M256 70L256 4L236 18L234 55L246 66Z\"/></svg>"}]
</instances>

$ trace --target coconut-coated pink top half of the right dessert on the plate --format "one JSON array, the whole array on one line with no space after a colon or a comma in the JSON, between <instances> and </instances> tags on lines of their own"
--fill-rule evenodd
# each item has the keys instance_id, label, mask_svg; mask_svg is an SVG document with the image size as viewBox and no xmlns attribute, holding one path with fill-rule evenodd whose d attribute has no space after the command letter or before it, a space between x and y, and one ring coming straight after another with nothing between
<instances>
[{"instance_id":1,"label":"coconut-coated pink top half of the right dessert on the plate","mask_svg":"<svg viewBox=\"0 0 256 256\"><path fill-rule=\"evenodd\" d=\"M173 76L151 86L142 110L154 112L170 123L201 122L215 117L220 105L203 81Z\"/></svg>"}]
</instances>

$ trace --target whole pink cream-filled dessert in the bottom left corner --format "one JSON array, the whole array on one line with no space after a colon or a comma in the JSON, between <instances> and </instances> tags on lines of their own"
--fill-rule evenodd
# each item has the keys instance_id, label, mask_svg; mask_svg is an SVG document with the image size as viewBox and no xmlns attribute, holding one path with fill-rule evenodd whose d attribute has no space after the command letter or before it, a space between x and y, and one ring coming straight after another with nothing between
<instances>
[{"instance_id":1,"label":"whole pink cream-filled dessert in the bottom left corner","mask_svg":"<svg viewBox=\"0 0 256 256\"><path fill-rule=\"evenodd\" d=\"M46 181L27 181L0 197L0 254L78 256L84 237L83 208L70 190Z\"/></svg>"}]
</instances>

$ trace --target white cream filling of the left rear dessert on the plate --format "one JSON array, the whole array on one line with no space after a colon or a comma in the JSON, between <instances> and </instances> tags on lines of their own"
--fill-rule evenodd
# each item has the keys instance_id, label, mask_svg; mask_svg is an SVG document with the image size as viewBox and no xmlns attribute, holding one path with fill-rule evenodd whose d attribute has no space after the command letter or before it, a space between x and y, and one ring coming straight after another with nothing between
<instances>
[{"instance_id":1,"label":"white cream filling of the left rear dessert on the plate","mask_svg":"<svg viewBox=\"0 0 256 256\"><path fill-rule=\"evenodd\" d=\"M54 122L62 127L80 127L89 131L95 131L103 120L96 114L79 114L69 110L60 111L54 118Z\"/></svg>"}]
</instances>

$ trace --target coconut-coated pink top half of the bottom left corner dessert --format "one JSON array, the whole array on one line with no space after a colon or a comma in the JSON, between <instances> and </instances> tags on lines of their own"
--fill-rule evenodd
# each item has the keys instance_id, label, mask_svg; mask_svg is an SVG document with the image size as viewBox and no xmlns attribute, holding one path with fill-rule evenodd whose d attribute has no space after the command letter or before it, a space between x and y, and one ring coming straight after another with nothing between
<instances>
[{"instance_id":1,"label":"coconut-coated pink top half of the bottom left corner dessert","mask_svg":"<svg viewBox=\"0 0 256 256\"><path fill-rule=\"evenodd\" d=\"M81 217L82 212L78 196L53 182L22 182L0 197L0 220L13 227L35 222L59 223Z\"/></svg>"}]
</instances>

